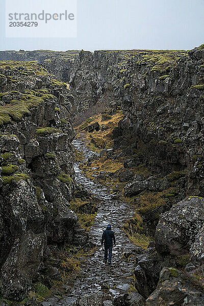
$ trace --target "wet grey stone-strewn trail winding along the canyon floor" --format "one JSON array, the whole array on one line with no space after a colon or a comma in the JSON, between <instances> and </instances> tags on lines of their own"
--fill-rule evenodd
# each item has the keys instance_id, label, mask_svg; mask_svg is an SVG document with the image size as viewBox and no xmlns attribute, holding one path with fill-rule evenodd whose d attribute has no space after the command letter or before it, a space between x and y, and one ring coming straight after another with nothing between
<instances>
[{"instance_id":1,"label":"wet grey stone-strewn trail winding along the canyon floor","mask_svg":"<svg viewBox=\"0 0 204 306\"><path fill-rule=\"evenodd\" d=\"M95 155L82 140L74 140L73 146L83 151L86 160ZM95 243L96 250L82 264L82 277L75 281L71 293L60 300L57 297L50 298L46 302L42 302L43 306L75 305L77 301L79 305L89 305L89 299L93 301L93 296L97 300L109 300L109 302L105 302L105 305L111 305L110 300L130 292L133 281L135 257L131 256L127 261L122 255L131 252L136 256L137 247L127 238L122 230L122 225L133 217L134 208L116 199L115 194L110 195L110 190L107 187L87 179L82 174L79 164L78 162L74 164L76 183L81 184L100 200L94 224L89 232L89 240ZM108 223L112 224L116 237L112 265L104 263L104 247L100 245L101 235ZM104 294L103 290L107 294ZM133 294L138 295L138 299L141 298L138 293L134 292Z\"/></svg>"}]
</instances>

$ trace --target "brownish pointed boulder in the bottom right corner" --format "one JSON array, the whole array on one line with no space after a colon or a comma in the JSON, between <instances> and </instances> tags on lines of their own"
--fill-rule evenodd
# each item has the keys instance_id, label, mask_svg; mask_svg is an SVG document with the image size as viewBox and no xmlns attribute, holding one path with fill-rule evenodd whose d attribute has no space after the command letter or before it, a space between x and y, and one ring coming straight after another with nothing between
<instances>
[{"instance_id":1,"label":"brownish pointed boulder in the bottom right corner","mask_svg":"<svg viewBox=\"0 0 204 306\"><path fill-rule=\"evenodd\" d=\"M173 268L164 268L157 289L147 298L147 306L203 306L204 290L195 278Z\"/></svg>"}]
</instances>

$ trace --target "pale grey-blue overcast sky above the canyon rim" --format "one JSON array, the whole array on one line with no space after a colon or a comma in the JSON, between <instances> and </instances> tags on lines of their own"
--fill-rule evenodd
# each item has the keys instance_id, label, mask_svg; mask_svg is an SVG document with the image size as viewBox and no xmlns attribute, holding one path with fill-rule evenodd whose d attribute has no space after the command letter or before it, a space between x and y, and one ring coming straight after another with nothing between
<instances>
[{"instance_id":1,"label":"pale grey-blue overcast sky above the canyon rim","mask_svg":"<svg viewBox=\"0 0 204 306\"><path fill-rule=\"evenodd\" d=\"M78 37L63 39L5 38L0 2L1 50L191 49L204 43L204 0L78 0Z\"/></svg>"}]
</instances>

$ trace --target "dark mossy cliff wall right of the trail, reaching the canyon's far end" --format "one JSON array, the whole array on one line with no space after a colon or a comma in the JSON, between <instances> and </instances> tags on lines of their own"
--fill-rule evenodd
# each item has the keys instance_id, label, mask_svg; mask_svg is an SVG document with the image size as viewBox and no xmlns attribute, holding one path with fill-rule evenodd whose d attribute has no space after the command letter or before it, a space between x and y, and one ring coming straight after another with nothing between
<instances>
[{"instance_id":1,"label":"dark mossy cliff wall right of the trail, reaching the canyon's far end","mask_svg":"<svg viewBox=\"0 0 204 306\"><path fill-rule=\"evenodd\" d=\"M185 172L186 193L202 196L203 63L203 45L188 53L82 52L69 82L80 110L104 101L122 108L115 149L139 150L155 174Z\"/></svg>"}]
</instances>

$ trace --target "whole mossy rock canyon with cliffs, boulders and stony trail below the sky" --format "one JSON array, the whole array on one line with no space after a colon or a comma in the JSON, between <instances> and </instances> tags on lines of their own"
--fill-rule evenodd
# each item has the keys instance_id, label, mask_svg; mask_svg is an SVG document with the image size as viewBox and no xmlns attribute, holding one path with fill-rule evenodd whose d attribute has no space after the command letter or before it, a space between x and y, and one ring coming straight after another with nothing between
<instances>
[{"instance_id":1,"label":"whole mossy rock canyon with cliffs, boulders and stony trail below the sky","mask_svg":"<svg viewBox=\"0 0 204 306\"><path fill-rule=\"evenodd\" d=\"M203 305L204 45L0 60L2 302Z\"/></svg>"}]
</instances>

